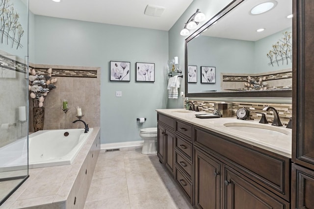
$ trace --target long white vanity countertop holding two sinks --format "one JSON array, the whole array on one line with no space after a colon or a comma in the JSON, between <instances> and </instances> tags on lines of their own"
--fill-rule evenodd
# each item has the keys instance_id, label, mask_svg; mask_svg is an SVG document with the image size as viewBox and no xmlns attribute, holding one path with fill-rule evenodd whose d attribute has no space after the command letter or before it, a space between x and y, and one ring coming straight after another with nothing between
<instances>
[{"instance_id":1,"label":"long white vanity countertop holding two sinks","mask_svg":"<svg viewBox=\"0 0 314 209\"><path fill-rule=\"evenodd\" d=\"M244 130L236 130L230 127L224 126L225 123L249 123L257 124L259 126L267 126L273 128L271 123L261 124L254 120L239 120L236 117L220 117L220 118L197 118L195 114L206 114L205 112L195 112L188 111L185 109L158 109L158 113L175 117L177 119L183 120L185 122L194 124L196 126L205 128L209 131L213 131L222 134L233 139L251 144L262 149L277 153L279 155L291 158L291 148L292 148L292 130L286 128L286 126L275 127L276 129L282 129L283 132L288 133L288 135L283 134L282 136L273 136L268 134L255 134ZM181 111L181 112L180 112ZM267 128L266 127L266 128Z\"/></svg>"}]
</instances>

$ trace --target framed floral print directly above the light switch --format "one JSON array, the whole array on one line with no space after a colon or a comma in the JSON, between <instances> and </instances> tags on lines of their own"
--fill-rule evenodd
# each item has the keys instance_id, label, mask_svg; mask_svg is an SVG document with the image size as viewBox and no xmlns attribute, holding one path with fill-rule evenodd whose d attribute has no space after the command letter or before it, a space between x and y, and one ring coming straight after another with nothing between
<instances>
[{"instance_id":1,"label":"framed floral print directly above the light switch","mask_svg":"<svg viewBox=\"0 0 314 209\"><path fill-rule=\"evenodd\" d=\"M110 81L130 81L130 62L110 61Z\"/></svg>"}]
</instances>

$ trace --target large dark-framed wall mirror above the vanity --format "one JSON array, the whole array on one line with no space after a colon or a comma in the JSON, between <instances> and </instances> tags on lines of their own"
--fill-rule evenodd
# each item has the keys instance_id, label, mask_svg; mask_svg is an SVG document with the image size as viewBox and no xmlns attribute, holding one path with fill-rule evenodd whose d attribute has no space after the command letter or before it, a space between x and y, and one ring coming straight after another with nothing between
<instances>
[{"instance_id":1,"label":"large dark-framed wall mirror above the vanity","mask_svg":"<svg viewBox=\"0 0 314 209\"><path fill-rule=\"evenodd\" d=\"M234 0L185 40L188 97L292 96L292 0L268 1Z\"/></svg>"}]
</instances>

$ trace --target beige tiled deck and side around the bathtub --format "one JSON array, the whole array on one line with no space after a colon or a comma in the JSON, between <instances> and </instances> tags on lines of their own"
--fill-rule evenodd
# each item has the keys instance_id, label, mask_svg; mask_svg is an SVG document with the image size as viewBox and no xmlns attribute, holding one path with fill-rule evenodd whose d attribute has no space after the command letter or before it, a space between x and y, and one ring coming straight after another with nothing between
<instances>
[{"instance_id":1,"label":"beige tiled deck and side around the bathtub","mask_svg":"<svg viewBox=\"0 0 314 209\"><path fill-rule=\"evenodd\" d=\"M82 209L100 152L100 128L70 165L29 169L29 178L0 209Z\"/></svg>"}]
</instances>

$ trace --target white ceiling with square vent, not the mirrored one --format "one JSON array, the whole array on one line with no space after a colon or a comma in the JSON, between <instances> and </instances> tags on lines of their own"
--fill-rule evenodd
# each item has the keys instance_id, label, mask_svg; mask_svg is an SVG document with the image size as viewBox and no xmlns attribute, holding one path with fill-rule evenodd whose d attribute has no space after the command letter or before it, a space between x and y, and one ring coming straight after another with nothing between
<instances>
[{"instance_id":1,"label":"white ceiling with square vent, not the mirrored one","mask_svg":"<svg viewBox=\"0 0 314 209\"><path fill-rule=\"evenodd\" d=\"M29 0L35 15L168 31L193 0ZM165 7L161 17L144 15L147 4Z\"/></svg>"}]
</instances>

